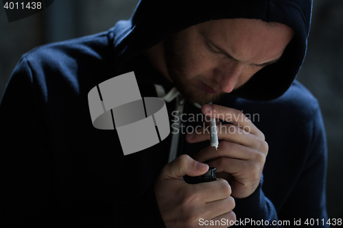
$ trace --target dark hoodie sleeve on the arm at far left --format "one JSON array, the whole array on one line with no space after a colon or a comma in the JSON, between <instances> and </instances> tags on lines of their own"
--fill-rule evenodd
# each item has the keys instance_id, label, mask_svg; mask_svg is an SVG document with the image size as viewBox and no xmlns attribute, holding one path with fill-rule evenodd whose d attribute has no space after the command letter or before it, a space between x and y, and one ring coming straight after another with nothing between
<instances>
[{"instance_id":1,"label":"dark hoodie sleeve on the arm at far left","mask_svg":"<svg viewBox=\"0 0 343 228\"><path fill-rule=\"evenodd\" d=\"M0 104L0 227L49 220L51 157L30 68L22 58Z\"/></svg>"}]
</instances>

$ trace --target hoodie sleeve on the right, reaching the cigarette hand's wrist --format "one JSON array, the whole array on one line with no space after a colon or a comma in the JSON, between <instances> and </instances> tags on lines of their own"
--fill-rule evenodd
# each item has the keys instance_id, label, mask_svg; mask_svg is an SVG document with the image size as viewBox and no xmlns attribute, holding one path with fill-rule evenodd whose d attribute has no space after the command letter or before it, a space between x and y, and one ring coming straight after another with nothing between
<instances>
[{"instance_id":1,"label":"hoodie sleeve on the right, reaching the cigarette hand's wrist","mask_svg":"<svg viewBox=\"0 0 343 228\"><path fill-rule=\"evenodd\" d=\"M281 211L276 212L272 201L263 194L262 176L259 187L250 197L235 200L236 225L249 224L257 227L252 221L263 221L263 225L268 223L268 227L329 227L325 192L327 142L318 103L312 115L311 133L303 170ZM242 222L243 220L250 220L250 223Z\"/></svg>"}]
</instances>

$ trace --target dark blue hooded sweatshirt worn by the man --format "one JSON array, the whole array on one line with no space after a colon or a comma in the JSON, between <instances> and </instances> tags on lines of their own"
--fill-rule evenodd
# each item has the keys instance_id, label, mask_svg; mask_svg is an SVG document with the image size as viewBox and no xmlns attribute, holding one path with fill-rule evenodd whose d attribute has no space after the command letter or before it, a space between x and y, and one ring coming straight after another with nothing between
<instances>
[{"instance_id":1,"label":"dark blue hooded sweatshirt worn by the man","mask_svg":"<svg viewBox=\"0 0 343 228\"><path fill-rule=\"evenodd\" d=\"M300 219L303 227L313 218L327 227L322 116L316 99L294 80L307 49L307 0L143 0L129 21L106 32L23 55L0 105L0 226L164 227L152 187L167 163L170 136L124 156L115 131L93 127L87 94L134 71L142 97L157 97L154 84L173 85L141 54L181 29L221 18L257 18L295 31L279 62L219 102L259 114L253 122L270 148L259 187L236 200L237 220L268 220L270 227L289 221L292 227ZM169 115L174 107L175 101L167 104ZM185 113L200 110L186 102ZM178 154L193 155L206 145L188 144L181 134Z\"/></svg>"}]
</instances>

